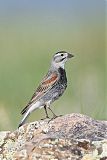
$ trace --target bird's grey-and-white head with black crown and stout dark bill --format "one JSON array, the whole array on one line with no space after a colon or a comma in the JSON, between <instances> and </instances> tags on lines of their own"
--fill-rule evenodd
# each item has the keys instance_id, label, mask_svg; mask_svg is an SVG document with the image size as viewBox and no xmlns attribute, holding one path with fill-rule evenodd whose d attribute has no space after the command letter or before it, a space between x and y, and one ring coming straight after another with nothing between
<instances>
[{"instance_id":1,"label":"bird's grey-and-white head with black crown and stout dark bill","mask_svg":"<svg viewBox=\"0 0 107 160\"><path fill-rule=\"evenodd\" d=\"M51 65L55 68L64 68L65 62L72 57L74 56L66 51L57 52L52 58Z\"/></svg>"}]
</instances>

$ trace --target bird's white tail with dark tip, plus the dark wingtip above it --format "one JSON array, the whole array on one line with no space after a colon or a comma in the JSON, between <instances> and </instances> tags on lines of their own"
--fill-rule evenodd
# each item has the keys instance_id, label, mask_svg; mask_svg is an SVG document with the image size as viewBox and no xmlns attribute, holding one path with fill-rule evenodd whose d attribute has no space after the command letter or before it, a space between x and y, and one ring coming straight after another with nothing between
<instances>
[{"instance_id":1,"label":"bird's white tail with dark tip, plus the dark wingtip above it","mask_svg":"<svg viewBox=\"0 0 107 160\"><path fill-rule=\"evenodd\" d=\"M30 113L32 111L34 111L35 109L39 108L39 107L40 107L40 102L39 101L36 102L35 104L32 104L31 106L26 106L21 112L22 114L24 114L24 117L21 120L18 128L21 127L25 123L25 121L29 117Z\"/></svg>"}]
</instances>

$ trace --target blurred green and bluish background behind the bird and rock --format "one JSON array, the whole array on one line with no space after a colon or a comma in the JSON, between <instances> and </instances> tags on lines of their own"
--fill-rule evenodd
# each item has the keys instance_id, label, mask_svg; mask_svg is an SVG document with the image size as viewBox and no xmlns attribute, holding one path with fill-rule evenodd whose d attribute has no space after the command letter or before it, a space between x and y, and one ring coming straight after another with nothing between
<instances>
[{"instance_id":1,"label":"blurred green and bluish background behind the bird and rock","mask_svg":"<svg viewBox=\"0 0 107 160\"><path fill-rule=\"evenodd\" d=\"M0 130L17 128L60 50L75 57L66 64L68 88L53 111L107 119L105 26L103 0L0 1ZM44 116L36 110L28 121Z\"/></svg>"}]
</instances>

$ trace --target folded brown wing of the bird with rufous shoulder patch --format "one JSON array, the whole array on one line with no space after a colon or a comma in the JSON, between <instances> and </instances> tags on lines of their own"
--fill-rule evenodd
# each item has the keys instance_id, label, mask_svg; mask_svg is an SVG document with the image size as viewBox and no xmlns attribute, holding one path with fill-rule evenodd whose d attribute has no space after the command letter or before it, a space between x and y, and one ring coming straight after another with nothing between
<instances>
[{"instance_id":1,"label":"folded brown wing of the bird with rufous shoulder patch","mask_svg":"<svg viewBox=\"0 0 107 160\"><path fill-rule=\"evenodd\" d=\"M53 87L53 85L58 81L58 79L59 76L57 72L52 72L50 74L47 74L44 77L43 81L40 83L36 92L33 94L31 100L29 101L27 106L22 110L21 113L24 114L32 104L34 104L41 97L43 97Z\"/></svg>"}]
</instances>

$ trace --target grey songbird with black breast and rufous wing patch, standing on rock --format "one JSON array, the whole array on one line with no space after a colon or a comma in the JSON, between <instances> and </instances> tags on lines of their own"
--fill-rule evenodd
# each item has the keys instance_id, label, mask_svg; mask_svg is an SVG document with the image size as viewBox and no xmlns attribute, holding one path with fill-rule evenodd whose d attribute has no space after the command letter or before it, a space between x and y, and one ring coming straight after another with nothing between
<instances>
[{"instance_id":1,"label":"grey songbird with black breast and rufous wing patch, standing on rock","mask_svg":"<svg viewBox=\"0 0 107 160\"><path fill-rule=\"evenodd\" d=\"M21 112L24 117L21 120L19 127L25 123L30 113L37 108L44 107L46 118L49 118L47 109L53 113L50 104L62 96L67 87L67 77L64 65L65 62L72 57L73 55L66 51L57 52L53 56L48 73L41 81L27 106ZM53 116L56 117L54 113Z\"/></svg>"}]
</instances>

